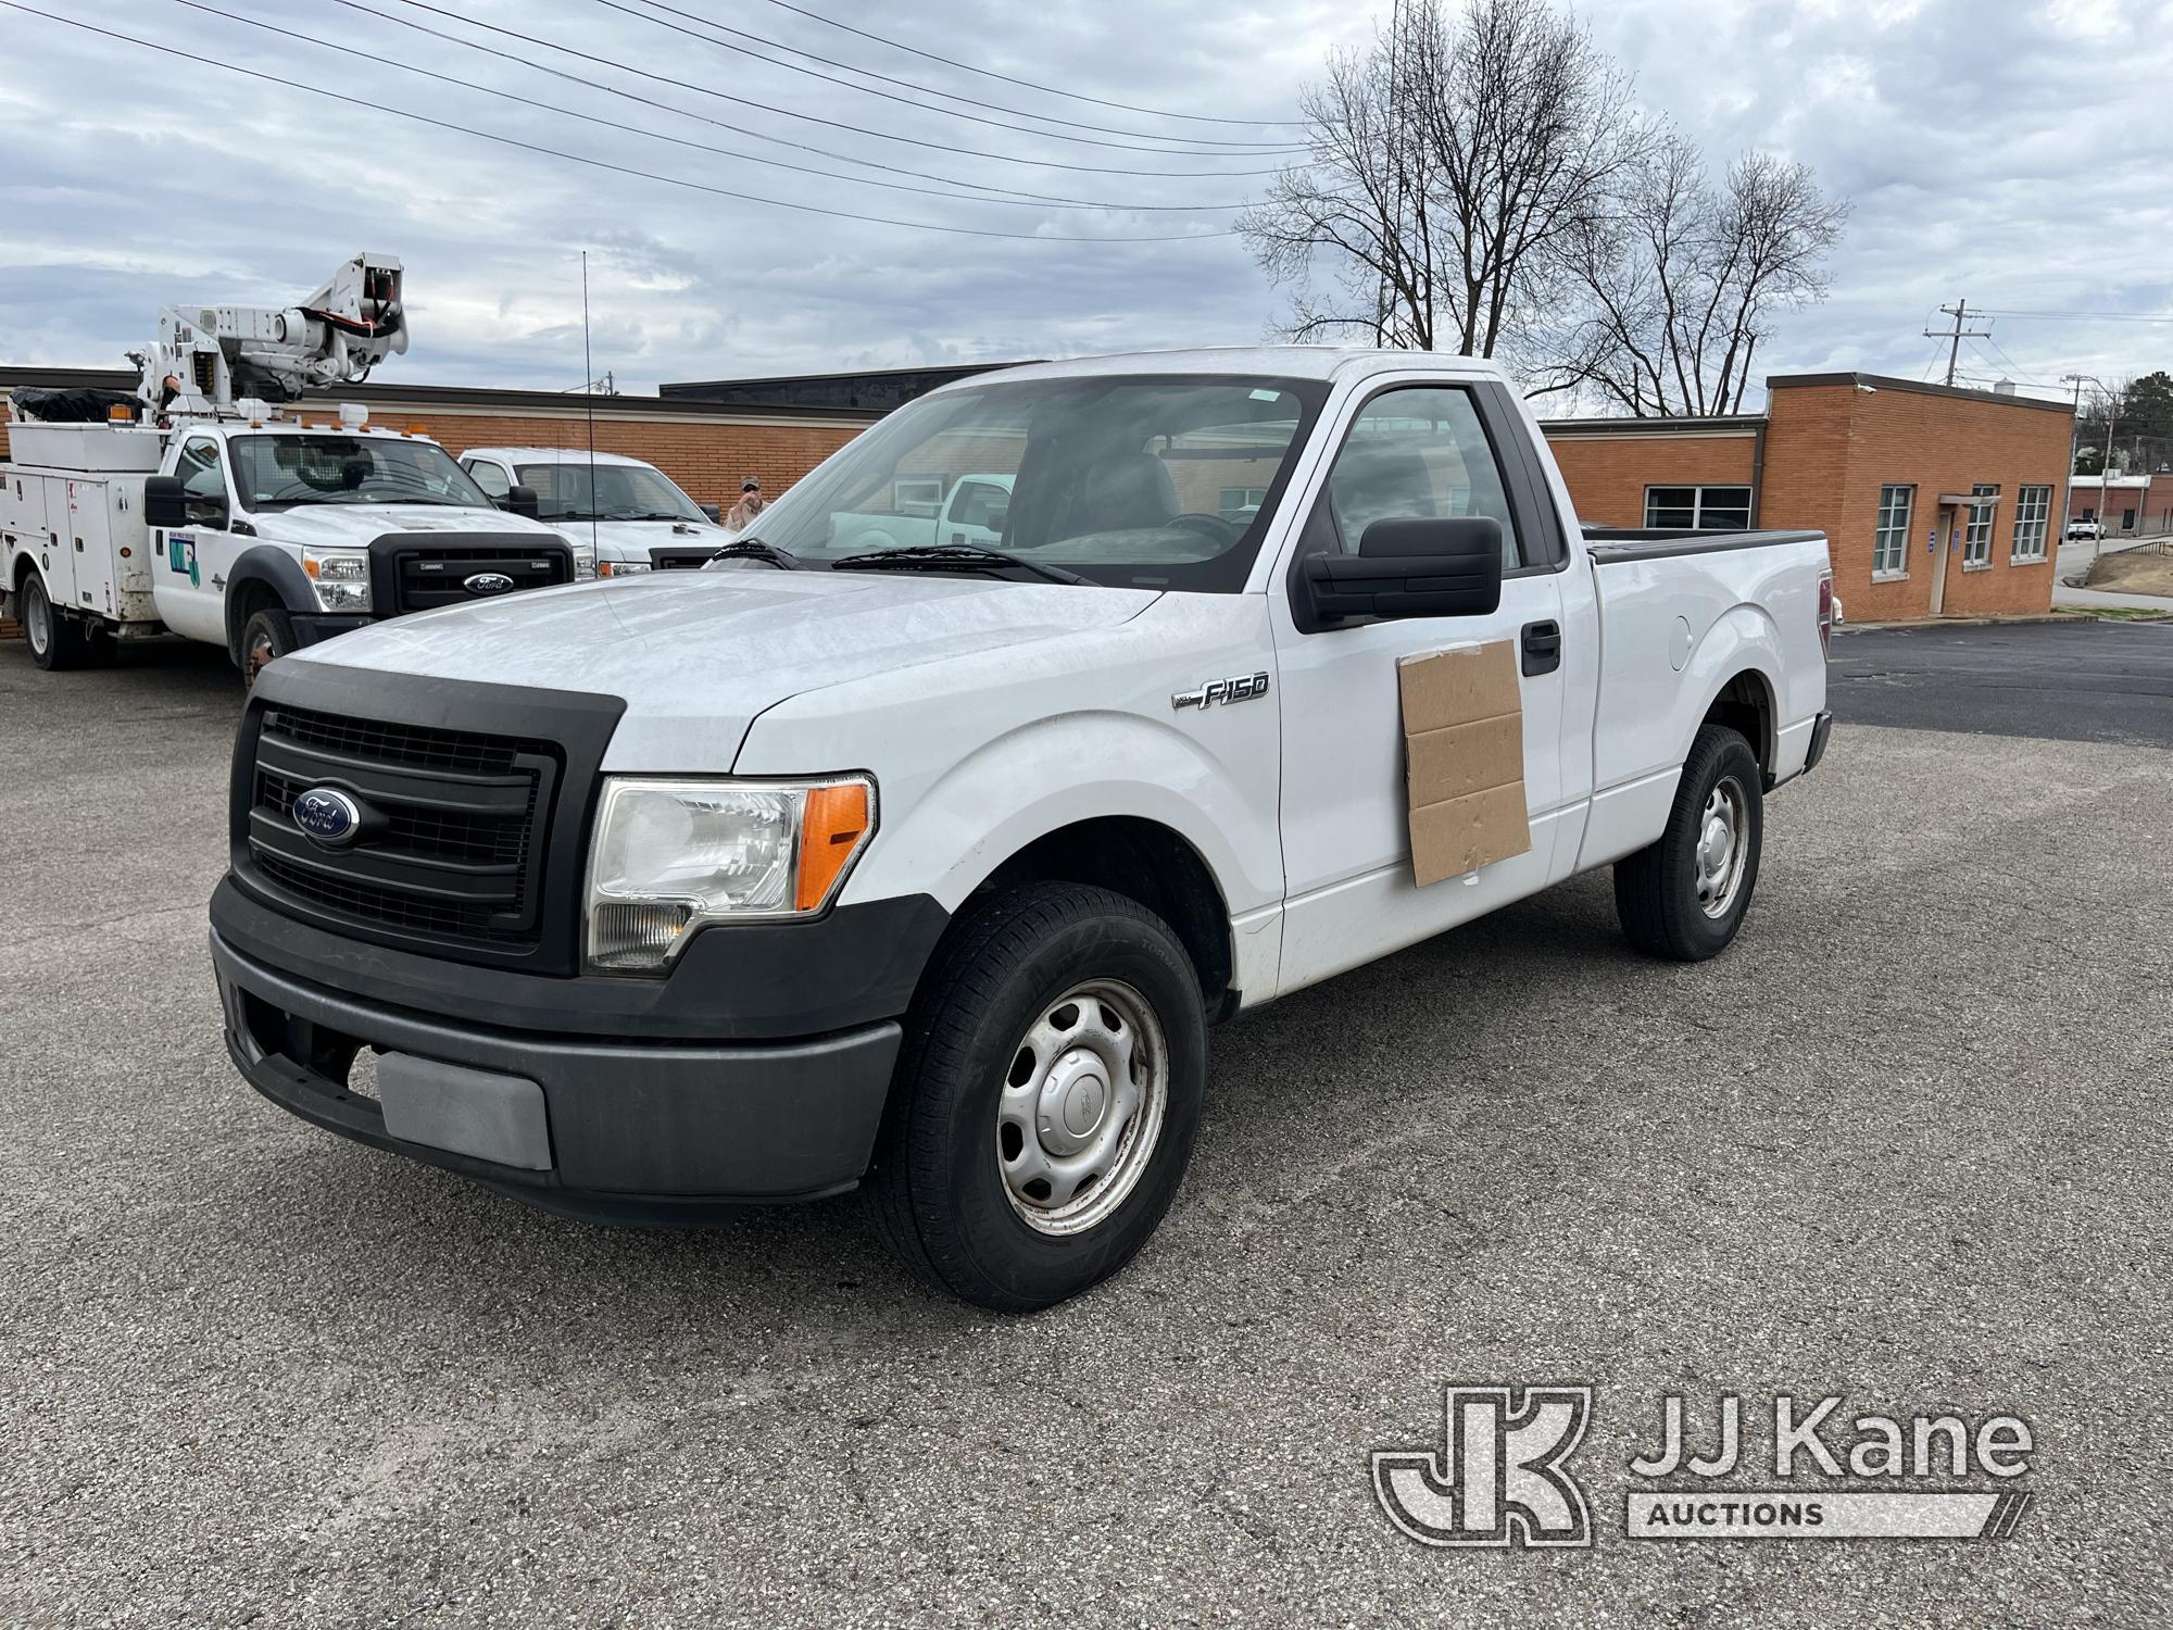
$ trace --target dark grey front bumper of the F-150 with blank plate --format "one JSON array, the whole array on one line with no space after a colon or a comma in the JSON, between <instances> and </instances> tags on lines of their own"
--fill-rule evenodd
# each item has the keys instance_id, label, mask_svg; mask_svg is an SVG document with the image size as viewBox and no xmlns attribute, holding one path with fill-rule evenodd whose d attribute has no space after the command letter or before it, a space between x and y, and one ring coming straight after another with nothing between
<instances>
[{"instance_id":1,"label":"dark grey front bumper of the F-150 with blank plate","mask_svg":"<svg viewBox=\"0 0 2173 1630\"><path fill-rule=\"evenodd\" d=\"M226 1052L274 1104L550 1211L619 1221L850 1189L902 1037L895 1021L739 1045L498 1030L293 978L217 930L211 961ZM359 1048L393 1054L378 1098L350 1091Z\"/></svg>"}]
</instances>

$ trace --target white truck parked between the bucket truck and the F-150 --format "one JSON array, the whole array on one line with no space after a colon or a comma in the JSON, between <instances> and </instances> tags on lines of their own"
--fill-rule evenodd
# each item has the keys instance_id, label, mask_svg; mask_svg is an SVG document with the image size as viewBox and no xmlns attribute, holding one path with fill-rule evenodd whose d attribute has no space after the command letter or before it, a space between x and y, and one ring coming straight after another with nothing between
<instances>
[{"instance_id":1,"label":"white truck parked between the bucket truck and the F-150","mask_svg":"<svg viewBox=\"0 0 2173 1630\"><path fill-rule=\"evenodd\" d=\"M656 465L585 448L469 448L461 469L491 498L535 493L537 519L595 550L600 578L698 569L732 535Z\"/></svg>"}]
</instances>

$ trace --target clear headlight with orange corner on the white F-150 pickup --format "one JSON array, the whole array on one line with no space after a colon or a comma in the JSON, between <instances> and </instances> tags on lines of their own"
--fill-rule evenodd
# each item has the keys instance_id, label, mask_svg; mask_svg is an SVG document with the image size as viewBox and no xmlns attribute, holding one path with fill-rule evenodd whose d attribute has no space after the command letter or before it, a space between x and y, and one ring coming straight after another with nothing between
<instances>
[{"instance_id":1,"label":"clear headlight with orange corner on the white F-150 pickup","mask_svg":"<svg viewBox=\"0 0 2173 1630\"><path fill-rule=\"evenodd\" d=\"M813 915L874 830L867 776L611 776L589 850L589 967L654 974L702 924Z\"/></svg>"}]
</instances>

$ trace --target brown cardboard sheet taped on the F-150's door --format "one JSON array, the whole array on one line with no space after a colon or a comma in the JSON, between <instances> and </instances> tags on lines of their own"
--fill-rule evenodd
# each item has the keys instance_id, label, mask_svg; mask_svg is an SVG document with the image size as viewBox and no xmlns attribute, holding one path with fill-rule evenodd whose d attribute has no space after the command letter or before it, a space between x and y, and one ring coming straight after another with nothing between
<instances>
[{"instance_id":1,"label":"brown cardboard sheet taped on the F-150's door","mask_svg":"<svg viewBox=\"0 0 2173 1630\"><path fill-rule=\"evenodd\" d=\"M1412 880L1423 889L1530 850L1515 643L1402 656L1395 678L1404 698Z\"/></svg>"}]
</instances>

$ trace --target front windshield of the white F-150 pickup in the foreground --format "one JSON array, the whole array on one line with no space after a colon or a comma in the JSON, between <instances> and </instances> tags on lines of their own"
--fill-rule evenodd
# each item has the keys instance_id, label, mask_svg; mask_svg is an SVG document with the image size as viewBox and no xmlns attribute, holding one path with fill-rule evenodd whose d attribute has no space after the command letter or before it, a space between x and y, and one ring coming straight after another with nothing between
<instances>
[{"instance_id":1,"label":"front windshield of the white F-150 pickup in the foreground","mask_svg":"<svg viewBox=\"0 0 2173 1630\"><path fill-rule=\"evenodd\" d=\"M850 441L745 537L811 565L963 546L1236 593L1326 396L1323 380L1204 374L943 391Z\"/></svg>"}]
</instances>

